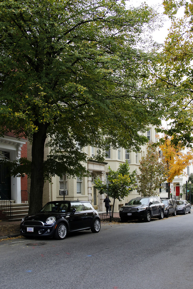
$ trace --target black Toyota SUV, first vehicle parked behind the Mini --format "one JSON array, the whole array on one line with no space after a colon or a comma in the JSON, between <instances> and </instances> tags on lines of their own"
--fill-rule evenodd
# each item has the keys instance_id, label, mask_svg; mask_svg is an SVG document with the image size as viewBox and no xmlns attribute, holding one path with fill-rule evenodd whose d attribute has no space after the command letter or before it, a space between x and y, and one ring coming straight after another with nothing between
<instances>
[{"instance_id":1,"label":"black Toyota SUV, first vehicle parked behind the Mini","mask_svg":"<svg viewBox=\"0 0 193 289\"><path fill-rule=\"evenodd\" d=\"M164 218L164 204L159 197L138 197L126 203L119 210L121 221L132 219L145 219L150 222L151 218Z\"/></svg>"}]
</instances>

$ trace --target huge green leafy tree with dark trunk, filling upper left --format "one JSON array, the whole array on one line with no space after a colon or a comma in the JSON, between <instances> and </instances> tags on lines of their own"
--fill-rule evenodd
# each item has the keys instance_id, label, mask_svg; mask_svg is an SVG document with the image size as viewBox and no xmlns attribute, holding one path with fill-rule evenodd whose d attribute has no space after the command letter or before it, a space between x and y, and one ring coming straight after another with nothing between
<instances>
[{"instance_id":1,"label":"huge green leafy tree with dark trunk, filling upper left","mask_svg":"<svg viewBox=\"0 0 193 289\"><path fill-rule=\"evenodd\" d=\"M32 144L30 214L45 179L86 174L83 147L98 160L107 143L139 150L147 126L160 124L166 103L145 89L154 55L143 37L157 19L146 4L116 0L0 1L0 133Z\"/></svg>"}]
</instances>

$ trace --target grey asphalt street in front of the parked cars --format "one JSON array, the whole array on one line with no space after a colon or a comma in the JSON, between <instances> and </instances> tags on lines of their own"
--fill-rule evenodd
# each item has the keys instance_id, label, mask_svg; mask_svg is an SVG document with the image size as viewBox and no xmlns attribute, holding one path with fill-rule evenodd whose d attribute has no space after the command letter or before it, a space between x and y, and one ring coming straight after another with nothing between
<instances>
[{"instance_id":1,"label":"grey asphalt street in front of the parked cars","mask_svg":"<svg viewBox=\"0 0 193 289\"><path fill-rule=\"evenodd\" d=\"M192 288L193 213L0 242L2 289Z\"/></svg>"}]
</instances>

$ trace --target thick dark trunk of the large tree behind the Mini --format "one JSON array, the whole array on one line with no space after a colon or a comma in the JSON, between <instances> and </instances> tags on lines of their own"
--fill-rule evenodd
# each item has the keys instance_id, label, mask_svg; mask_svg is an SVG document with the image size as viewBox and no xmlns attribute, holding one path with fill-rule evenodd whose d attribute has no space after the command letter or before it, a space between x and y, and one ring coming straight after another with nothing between
<instances>
[{"instance_id":1,"label":"thick dark trunk of the large tree behind the Mini","mask_svg":"<svg viewBox=\"0 0 193 289\"><path fill-rule=\"evenodd\" d=\"M31 187L29 198L29 215L38 213L42 208L44 187L44 146L48 125L39 124L34 133L31 148Z\"/></svg>"}]
</instances>

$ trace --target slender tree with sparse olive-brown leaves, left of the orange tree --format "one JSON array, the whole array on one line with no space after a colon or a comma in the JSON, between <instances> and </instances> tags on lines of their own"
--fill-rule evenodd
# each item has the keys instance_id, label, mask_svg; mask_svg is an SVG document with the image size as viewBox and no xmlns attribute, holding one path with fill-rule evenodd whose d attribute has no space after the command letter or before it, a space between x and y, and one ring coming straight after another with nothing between
<instances>
[{"instance_id":1,"label":"slender tree with sparse olive-brown leaves, left of the orange tree","mask_svg":"<svg viewBox=\"0 0 193 289\"><path fill-rule=\"evenodd\" d=\"M159 161L160 155L155 143L148 143L147 155L140 161L140 174L137 175L139 185L137 192L143 197L156 195L160 184L166 180L165 170Z\"/></svg>"}]
</instances>

